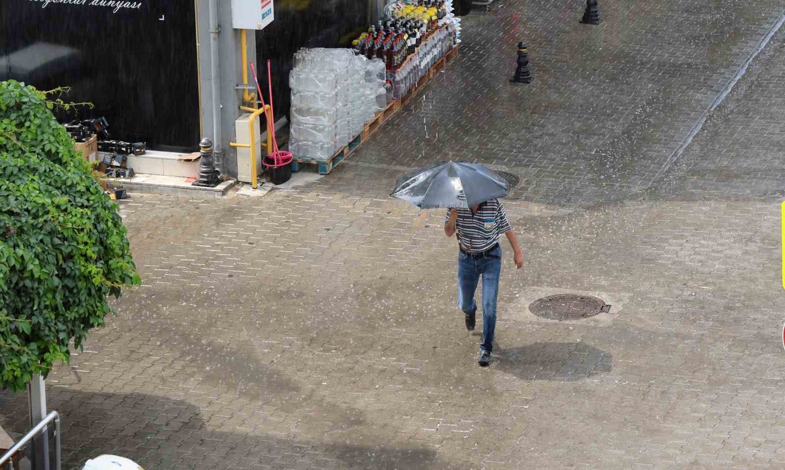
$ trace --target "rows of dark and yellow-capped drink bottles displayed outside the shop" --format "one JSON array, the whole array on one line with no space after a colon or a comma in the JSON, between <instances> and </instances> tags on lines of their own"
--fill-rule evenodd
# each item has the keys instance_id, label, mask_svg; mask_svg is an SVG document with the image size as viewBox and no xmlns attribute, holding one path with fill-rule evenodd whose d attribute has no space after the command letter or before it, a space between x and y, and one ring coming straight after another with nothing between
<instances>
[{"instance_id":1,"label":"rows of dark and yellow-capped drink bottles displayed outside the shop","mask_svg":"<svg viewBox=\"0 0 785 470\"><path fill-rule=\"evenodd\" d=\"M357 55L385 61L388 89L392 99L400 99L460 42L460 18L452 11L452 0L396 2L352 48Z\"/></svg>"}]
</instances>

